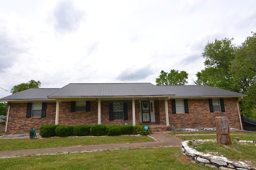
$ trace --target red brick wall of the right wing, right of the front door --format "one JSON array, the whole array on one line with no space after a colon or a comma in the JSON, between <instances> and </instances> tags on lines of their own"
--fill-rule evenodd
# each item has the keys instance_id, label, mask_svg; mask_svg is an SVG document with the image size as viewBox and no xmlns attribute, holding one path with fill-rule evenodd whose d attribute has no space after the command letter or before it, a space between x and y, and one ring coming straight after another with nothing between
<instances>
[{"instance_id":1,"label":"red brick wall of the right wing, right of the front door","mask_svg":"<svg viewBox=\"0 0 256 170\"><path fill-rule=\"evenodd\" d=\"M189 113L172 114L168 101L169 122L175 128L216 127L215 117L228 118L229 127L241 129L236 102L238 99L224 99L225 112L210 112L208 99L188 100Z\"/></svg>"}]
</instances>

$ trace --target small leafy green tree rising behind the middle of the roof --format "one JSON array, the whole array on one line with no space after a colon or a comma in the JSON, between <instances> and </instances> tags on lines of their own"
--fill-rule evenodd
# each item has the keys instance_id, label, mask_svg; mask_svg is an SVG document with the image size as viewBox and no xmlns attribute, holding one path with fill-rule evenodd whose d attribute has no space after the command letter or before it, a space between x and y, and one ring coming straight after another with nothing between
<instances>
[{"instance_id":1,"label":"small leafy green tree rising behind the middle of the roof","mask_svg":"<svg viewBox=\"0 0 256 170\"><path fill-rule=\"evenodd\" d=\"M172 69L170 73L161 71L160 76L156 78L156 85L185 85L188 82L186 81L188 79L188 73L186 71L179 71Z\"/></svg>"}]
</instances>

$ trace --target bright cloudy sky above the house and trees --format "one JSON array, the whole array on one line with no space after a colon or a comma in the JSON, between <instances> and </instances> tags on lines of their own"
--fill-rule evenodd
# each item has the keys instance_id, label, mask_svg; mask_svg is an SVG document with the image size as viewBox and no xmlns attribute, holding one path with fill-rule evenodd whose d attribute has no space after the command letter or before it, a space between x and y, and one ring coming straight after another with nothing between
<instances>
[{"instance_id":1,"label":"bright cloudy sky above the house and trees","mask_svg":"<svg viewBox=\"0 0 256 170\"><path fill-rule=\"evenodd\" d=\"M172 69L194 85L208 42L252 31L255 0L0 0L0 98L30 80L156 84Z\"/></svg>"}]
</instances>

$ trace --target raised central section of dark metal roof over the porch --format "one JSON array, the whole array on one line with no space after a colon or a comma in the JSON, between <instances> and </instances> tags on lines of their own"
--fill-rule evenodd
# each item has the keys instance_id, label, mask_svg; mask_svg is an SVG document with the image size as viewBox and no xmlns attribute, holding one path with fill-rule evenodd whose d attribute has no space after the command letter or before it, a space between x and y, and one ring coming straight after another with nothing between
<instances>
[{"instance_id":1,"label":"raised central section of dark metal roof over the porch","mask_svg":"<svg viewBox=\"0 0 256 170\"><path fill-rule=\"evenodd\" d=\"M172 96L174 93L157 88L151 83L96 83L68 84L49 95L54 97L114 97L114 96Z\"/></svg>"}]
</instances>

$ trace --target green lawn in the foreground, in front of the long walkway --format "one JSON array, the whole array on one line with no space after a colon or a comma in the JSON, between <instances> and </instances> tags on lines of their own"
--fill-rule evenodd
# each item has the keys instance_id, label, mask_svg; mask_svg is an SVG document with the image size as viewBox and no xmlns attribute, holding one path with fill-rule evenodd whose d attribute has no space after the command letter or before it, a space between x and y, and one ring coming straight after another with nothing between
<instances>
[{"instance_id":1,"label":"green lawn in the foreground, in front of the long walkway","mask_svg":"<svg viewBox=\"0 0 256 170\"><path fill-rule=\"evenodd\" d=\"M5 170L214 170L181 156L180 147L113 150L1 159Z\"/></svg>"}]
</instances>

